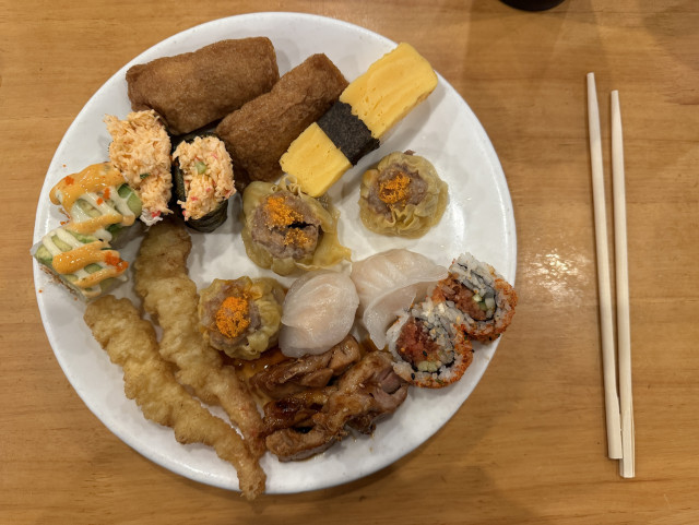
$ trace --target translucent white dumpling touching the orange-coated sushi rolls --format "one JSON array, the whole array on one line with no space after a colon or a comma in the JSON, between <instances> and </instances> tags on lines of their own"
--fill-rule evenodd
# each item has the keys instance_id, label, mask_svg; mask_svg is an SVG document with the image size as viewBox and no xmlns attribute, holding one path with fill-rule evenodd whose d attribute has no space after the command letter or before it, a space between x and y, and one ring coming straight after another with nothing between
<instances>
[{"instance_id":1,"label":"translucent white dumpling touching the orange-coated sushi rolls","mask_svg":"<svg viewBox=\"0 0 699 525\"><path fill-rule=\"evenodd\" d=\"M447 269L425 255L393 249L352 265L351 278L359 295L359 314L378 348L388 344L386 333L398 315L415 300L422 300Z\"/></svg>"}]
</instances>

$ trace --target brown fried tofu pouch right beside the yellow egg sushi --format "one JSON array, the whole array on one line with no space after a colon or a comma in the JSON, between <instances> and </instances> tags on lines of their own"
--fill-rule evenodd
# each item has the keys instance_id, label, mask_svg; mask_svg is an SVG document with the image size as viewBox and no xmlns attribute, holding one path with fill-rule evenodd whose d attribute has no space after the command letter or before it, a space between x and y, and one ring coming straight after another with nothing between
<instances>
[{"instance_id":1,"label":"brown fried tofu pouch right beside the yellow egg sushi","mask_svg":"<svg viewBox=\"0 0 699 525\"><path fill-rule=\"evenodd\" d=\"M280 158L294 139L337 99L347 81L322 53L284 74L270 93L228 115L216 128L236 174L273 181L282 175Z\"/></svg>"}]
</instances>

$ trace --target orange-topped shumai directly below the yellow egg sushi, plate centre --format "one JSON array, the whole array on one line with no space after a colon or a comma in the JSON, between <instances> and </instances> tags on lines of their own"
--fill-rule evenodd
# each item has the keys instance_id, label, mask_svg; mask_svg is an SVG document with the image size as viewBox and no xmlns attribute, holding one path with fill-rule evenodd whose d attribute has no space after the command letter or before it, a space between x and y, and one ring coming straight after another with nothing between
<instances>
[{"instance_id":1,"label":"orange-topped shumai directly below the yellow egg sushi, plate centre","mask_svg":"<svg viewBox=\"0 0 699 525\"><path fill-rule=\"evenodd\" d=\"M242 193L242 242L258 266L288 275L350 260L337 239L340 214L331 202L303 193L291 180L254 181Z\"/></svg>"}]
</instances>

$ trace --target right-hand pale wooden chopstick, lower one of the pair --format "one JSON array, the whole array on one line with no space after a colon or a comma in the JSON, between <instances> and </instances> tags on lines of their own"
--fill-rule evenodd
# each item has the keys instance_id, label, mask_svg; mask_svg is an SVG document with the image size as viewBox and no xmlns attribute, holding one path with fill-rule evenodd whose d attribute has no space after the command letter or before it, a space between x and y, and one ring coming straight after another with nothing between
<instances>
[{"instance_id":1,"label":"right-hand pale wooden chopstick, lower one of the pair","mask_svg":"<svg viewBox=\"0 0 699 525\"><path fill-rule=\"evenodd\" d=\"M621 462L625 478L636 475L633 397L631 394L631 325L626 240L626 190L624 182L624 139L619 92L612 92L612 180L614 182L614 258L616 262L616 327L621 405Z\"/></svg>"}]
</instances>

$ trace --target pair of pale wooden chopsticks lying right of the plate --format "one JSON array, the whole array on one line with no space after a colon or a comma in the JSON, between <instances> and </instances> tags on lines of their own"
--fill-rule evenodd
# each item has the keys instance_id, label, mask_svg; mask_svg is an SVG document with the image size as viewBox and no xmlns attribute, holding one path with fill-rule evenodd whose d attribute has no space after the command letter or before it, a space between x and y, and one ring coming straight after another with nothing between
<instances>
[{"instance_id":1,"label":"pair of pale wooden chopsticks lying right of the plate","mask_svg":"<svg viewBox=\"0 0 699 525\"><path fill-rule=\"evenodd\" d=\"M620 460L624 478L636 475L633 443L633 399L631 395L631 334L629 321L629 279L626 240L626 196L624 187L624 144L619 92L612 92L612 180L614 188L614 253L616 261L616 323L619 389L617 391L614 345L614 314L607 250L607 219L604 196L604 168L600 136L600 109L594 73L588 73L588 124L592 159L592 193L597 252L597 287L602 332L602 366L607 426L607 449L612 460ZM619 392L619 393L617 393Z\"/></svg>"}]
</instances>

